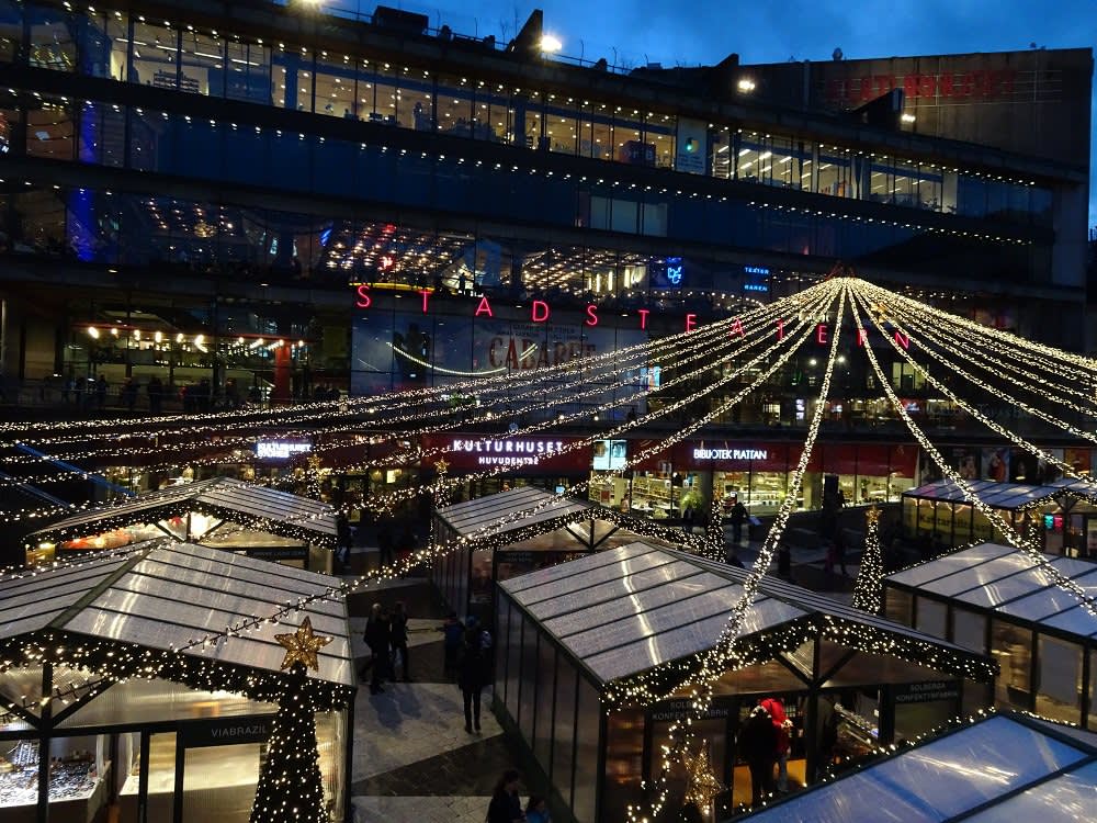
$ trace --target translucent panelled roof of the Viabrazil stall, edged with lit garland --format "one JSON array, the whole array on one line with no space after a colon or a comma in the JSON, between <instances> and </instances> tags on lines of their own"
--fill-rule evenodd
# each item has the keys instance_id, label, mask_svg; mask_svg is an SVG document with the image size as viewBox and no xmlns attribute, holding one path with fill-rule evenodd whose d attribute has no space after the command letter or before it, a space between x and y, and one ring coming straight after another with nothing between
<instances>
[{"instance_id":1,"label":"translucent panelled roof of the Viabrazil stall, edged with lit garland","mask_svg":"<svg viewBox=\"0 0 1097 823\"><path fill-rule=\"evenodd\" d=\"M338 588L338 580L314 572L147 541L124 553L0 580L0 650L19 659L32 649L70 649L79 653L70 664L100 672L140 656L162 669L165 679L211 688L205 678L216 670L224 684L213 688L267 699L281 680L285 652L274 635L294 631L307 616L317 634L332 638L309 684L327 702L339 702L357 679ZM202 642L211 631L317 596L284 624L264 621L218 643Z\"/></svg>"}]
</instances>

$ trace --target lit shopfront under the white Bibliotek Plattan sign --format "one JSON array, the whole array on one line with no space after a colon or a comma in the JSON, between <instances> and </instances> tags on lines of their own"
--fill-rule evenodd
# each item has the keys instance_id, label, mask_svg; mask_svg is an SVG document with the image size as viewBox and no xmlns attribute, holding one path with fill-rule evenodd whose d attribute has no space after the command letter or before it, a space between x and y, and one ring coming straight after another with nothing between
<instances>
[{"instance_id":1,"label":"lit shopfront under the white Bibliotek Plattan sign","mask_svg":"<svg viewBox=\"0 0 1097 823\"><path fill-rule=\"evenodd\" d=\"M687 507L705 510L713 499L730 508L740 500L754 516L773 515L788 495L803 449L766 440L689 440L637 460L633 471L612 470L655 444L648 440L607 440L621 451L618 465L599 466L596 449L590 499L653 519L677 519ZM622 443L623 446L617 446ZM849 504L895 501L914 486L918 450L913 446L822 443L811 455L796 509L817 509L823 476L837 475Z\"/></svg>"}]
</instances>

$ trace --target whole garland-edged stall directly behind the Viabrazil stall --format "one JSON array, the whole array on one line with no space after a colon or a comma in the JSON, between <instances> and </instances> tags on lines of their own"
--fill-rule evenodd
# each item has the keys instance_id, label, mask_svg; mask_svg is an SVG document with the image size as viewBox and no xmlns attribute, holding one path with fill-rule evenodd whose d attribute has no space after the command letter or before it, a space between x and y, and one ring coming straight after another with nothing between
<instances>
[{"instance_id":1,"label":"whole garland-edged stall directly behind the Viabrazil stall","mask_svg":"<svg viewBox=\"0 0 1097 823\"><path fill-rule=\"evenodd\" d=\"M150 492L39 529L26 539L26 557L29 563L49 562L165 537L330 572L336 512L307 497L215 477Z\"/></svg>"}]
</instances>

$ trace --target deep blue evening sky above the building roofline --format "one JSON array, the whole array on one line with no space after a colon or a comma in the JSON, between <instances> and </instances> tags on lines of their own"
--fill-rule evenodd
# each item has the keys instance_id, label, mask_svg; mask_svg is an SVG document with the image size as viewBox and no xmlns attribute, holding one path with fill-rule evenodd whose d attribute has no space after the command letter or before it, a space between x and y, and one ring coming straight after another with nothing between
<instances>
[{"instance_id":1,"label":"deep blue evening sky above the building roofline","mask_svg":"<svg viewBox=\"0 0 1097 823\"><path fill-rule=\"evenodd\" d=\"M372 12L376 0L331 0ZM633 66L713 65L736 52L739 60L829 60L911 55L1013 52L1031 43L1047 48L1097 46L1097 0L414 0L398 5L430 15L431 25L508 41L535 8L545 31L564 43L562 55L606 57ZM1095 98L1097 101L1097 98ZM1090 150L1097 140L1090 139ZM1097 168L1097 154L1092 166ZM1097 225L1097 185L1090 180L1089 225Z\"/></svg>"}]
</instances>

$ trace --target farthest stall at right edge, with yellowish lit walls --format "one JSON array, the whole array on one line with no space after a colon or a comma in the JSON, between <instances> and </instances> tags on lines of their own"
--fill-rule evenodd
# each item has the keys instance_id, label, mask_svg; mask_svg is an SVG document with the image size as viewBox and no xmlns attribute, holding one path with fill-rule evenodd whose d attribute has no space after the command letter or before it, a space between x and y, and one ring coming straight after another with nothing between
<instances>
[{"instance_id":1,"label":"farthest stall at right edge, with yellowish lit walls","mask_svg":"<svg viewBox=\"0 0 1097 823\"><path fill-rule=\"evenodd\" d=\"M1070 557L1097 556L1097 483L1063 477L1052 483L968 481L979 498L1022 534L1038 532L1044 551ZM953 548L1005 542L987 517L951 481L903 493L903 530L926 544Z\"/></svg>"}]
</instances>

